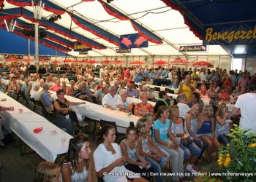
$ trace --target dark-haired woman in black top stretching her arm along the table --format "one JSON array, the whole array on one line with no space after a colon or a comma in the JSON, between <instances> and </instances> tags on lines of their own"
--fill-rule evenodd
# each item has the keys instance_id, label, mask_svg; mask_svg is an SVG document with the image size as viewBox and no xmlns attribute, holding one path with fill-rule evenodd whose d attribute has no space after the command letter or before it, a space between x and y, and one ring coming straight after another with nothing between
<instances>
[{"instance_id":1,"label":"dark-haired woman in black top stretching her arm along the table","mask_svg":"<svg viewBox=\"0 0 256 182\"><path fill-rule=\"evenodd\" d=\"M57 99L54 101L53 106L54 106L54 110L56 111L56 114L59 114L61 116L67 116L70 110L69 106L77 106L77 105L86 103L86 102L81 102L81 103L70 102L69 100L64 98L65 92L63 89L58 90L56 94L57 94Z\"/></svg>"}]
</instances>

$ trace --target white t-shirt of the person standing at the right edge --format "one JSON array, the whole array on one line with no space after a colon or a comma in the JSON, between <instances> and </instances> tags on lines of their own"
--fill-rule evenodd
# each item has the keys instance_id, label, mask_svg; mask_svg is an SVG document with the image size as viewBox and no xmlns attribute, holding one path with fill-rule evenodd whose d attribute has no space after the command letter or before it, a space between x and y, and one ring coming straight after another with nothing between
<instances>
[{"instance_id":1,"label":"white t-shirt of the person standing at the right edge","mask_svg":"<svg viewBox=\"0 0 256 182\"><path fill-rule=\"evenodd\" d=\"M248 134L256 132L256 93L239 95L235 107L241 110L240 127L252 129Z\"/></svg>"}]
</instances>

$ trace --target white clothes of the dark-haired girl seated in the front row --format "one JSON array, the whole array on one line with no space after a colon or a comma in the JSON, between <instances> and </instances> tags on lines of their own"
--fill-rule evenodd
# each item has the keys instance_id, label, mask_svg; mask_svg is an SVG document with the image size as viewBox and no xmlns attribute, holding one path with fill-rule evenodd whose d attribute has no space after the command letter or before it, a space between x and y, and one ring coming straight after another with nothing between
<instances>
[{"instance_id":1,"label":"white clothes of the dark-haired girl seated in the front row","mask_svg":"<svg viewBox=\"0 0 256 182\"><path fill-rule=\"evenodd\" d=\"M116 161L116 159L120 159L123 157L121 154L121 148L118 146L117 143L111 143L113 146L113 149L115 149L116 154L112 154L111 151L108 151L105 146L101 143L97 147L97 149L94 151L94 166L96 172L99 172L105 167L108 167L113 162ZM110 175L117 173L117 175ZM127 170L127 168L124 167L124 165L114 167L113 170L110 171L109 175L105 175L103 177L105 182L126 182L127 177L125 173L129 174L129 178L136 178L136 176L132 175L135 174L132 171ZM121 175L124 174L124 175ZM138 177L137 177L138 178Z\"/></svg>"}]
</instances>

